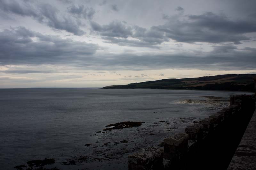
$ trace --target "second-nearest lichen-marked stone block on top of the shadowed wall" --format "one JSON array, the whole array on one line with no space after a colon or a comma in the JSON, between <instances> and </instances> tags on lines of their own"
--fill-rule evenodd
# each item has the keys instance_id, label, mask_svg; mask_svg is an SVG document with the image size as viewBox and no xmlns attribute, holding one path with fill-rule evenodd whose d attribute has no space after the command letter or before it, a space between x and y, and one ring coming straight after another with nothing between
<instances>
[{"instance_id":1,"label":"second-nearest lichen-marked stone block on top of the shadowed wall","mask_svg":"<svg viewBox=\"0 0 256 170\"><path fill-rule=\"evenodd\" d=\"M188 134L176 133L164 139L164 158L180 160L188 153Z\"/></svg>"}]
</instances>

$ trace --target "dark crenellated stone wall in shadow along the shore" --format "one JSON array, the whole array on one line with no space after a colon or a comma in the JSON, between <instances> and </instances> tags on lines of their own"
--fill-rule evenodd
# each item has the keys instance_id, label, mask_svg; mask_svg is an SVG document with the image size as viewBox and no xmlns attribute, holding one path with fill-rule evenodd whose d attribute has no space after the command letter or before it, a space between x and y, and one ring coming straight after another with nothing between
<instances>
[{"instance_id":1,"label":"dark crenellated stone wall in shadow along the shore","mask_svg":"<svg viewBox=\"0 0 256 170\"><path fill-rule=\"evenodd\" d=\"M230 96L230 107L128 157L129 170L227 169L255 108L254 95Z\"/></svg>"}]
</instances>

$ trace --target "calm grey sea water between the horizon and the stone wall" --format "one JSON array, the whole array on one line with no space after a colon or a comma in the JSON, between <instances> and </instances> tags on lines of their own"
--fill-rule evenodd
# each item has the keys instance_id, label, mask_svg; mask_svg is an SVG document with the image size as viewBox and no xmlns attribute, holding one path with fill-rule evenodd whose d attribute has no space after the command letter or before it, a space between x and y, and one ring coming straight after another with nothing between
<instances>
[{"instance_id":1,"label":"calm grey sea water between the horizon and the stone wall","mask_svg":"<svg viewBox=\"0 0 256 170\"><path fill-rule=\"evenodd\" d=\"M45 167L127 169L127 155L158 144L166 135L227 106L228 96L235 93L242 92L0 89L0 169L14 169L28 160L44 158L56 160L54 165ZM94 133L107 124L123 121L145 123L138 128ZM124 139L128 143L120 143ZM110 143L104 145L107 142ZM92 145L84 146L88 143ZM82 156L86 161L62 165Z\"/></svg>"}]
</instances>

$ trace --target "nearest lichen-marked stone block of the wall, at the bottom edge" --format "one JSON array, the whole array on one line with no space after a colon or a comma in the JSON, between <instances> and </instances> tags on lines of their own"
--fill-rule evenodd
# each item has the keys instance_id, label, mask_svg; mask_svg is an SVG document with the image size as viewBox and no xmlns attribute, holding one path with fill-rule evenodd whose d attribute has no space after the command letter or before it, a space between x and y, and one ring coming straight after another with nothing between
<instances>
[{"instance_id":1,"label":"nearest lichen-marked stone block of the wall, at the bottom edge","mask_svg":"<svg viewBox=\"0 0 256 170\"><path fill-rule=\"evenodd\" d=\"M161 147L149 147L128 156L129 170L158 169L163 166L164 150Z\"/></svg>"}]
</instances>

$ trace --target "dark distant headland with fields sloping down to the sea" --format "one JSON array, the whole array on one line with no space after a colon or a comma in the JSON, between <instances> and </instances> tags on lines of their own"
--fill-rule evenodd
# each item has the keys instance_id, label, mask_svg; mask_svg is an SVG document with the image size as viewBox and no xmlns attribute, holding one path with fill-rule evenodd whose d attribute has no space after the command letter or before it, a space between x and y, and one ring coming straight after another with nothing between
<instances>
[{"instance_id":1,"label":"dark distant headland with fields sloping down to the sea","mask_svg":"<svg viewBox=\"0 0 256 170\"><path fill-rule=\"evenodd\" d=\"M169 78L128 85L110 85L103 89L189 89L254 91L253 77L256 74L225 74L199 78Z\"/></svg>"}]
</instances>

